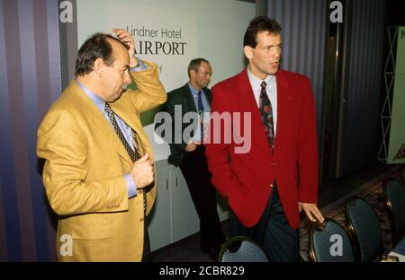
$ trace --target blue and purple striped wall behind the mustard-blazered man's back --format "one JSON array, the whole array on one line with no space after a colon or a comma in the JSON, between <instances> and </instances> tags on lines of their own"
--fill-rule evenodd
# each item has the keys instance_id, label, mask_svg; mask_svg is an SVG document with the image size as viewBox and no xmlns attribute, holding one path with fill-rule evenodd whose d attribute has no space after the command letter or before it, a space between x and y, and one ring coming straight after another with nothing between
<instances>
[{"instance_id":1,"label":"blue and purple striped wall behind the mustard-blazered man's back","mask_svg":"<svg viewBox=\"0 0 405 280\"><path fill-rule=\"evenodd\" d=\"M35 146L61 91L58 33L58 1L0 0L0 261L55 259Z\"/></svg>"}]
</instances>

